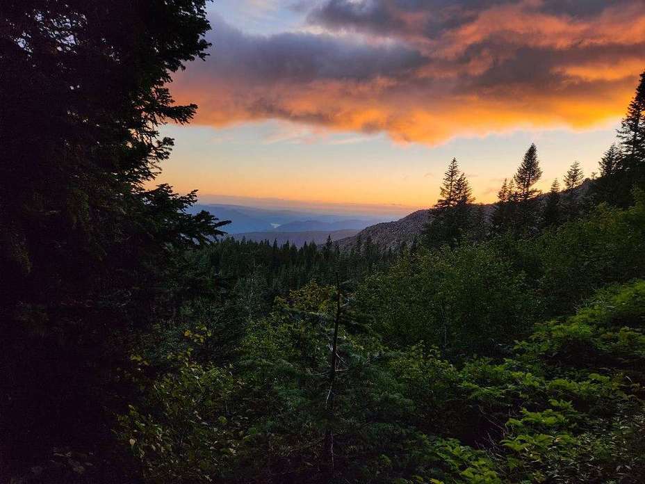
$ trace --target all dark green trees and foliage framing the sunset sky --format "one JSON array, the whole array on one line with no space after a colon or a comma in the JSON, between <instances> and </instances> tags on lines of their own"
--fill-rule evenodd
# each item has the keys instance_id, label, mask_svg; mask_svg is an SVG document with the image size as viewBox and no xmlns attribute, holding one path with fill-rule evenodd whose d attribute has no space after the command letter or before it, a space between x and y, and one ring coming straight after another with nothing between
<instances>
[{"instance_id":1,"label":"all dark green trees and foliage framing the sunset sky","mask_svg":"<svg viewBox=\"0 0 645 484\"><path fill-rule=\"evenodd\" d=\"M3 482L643 482L645 72L596 174L453 159L414 243L296 248L149 188L204 0L0 22Z\"/></svg>"}]
</instances>

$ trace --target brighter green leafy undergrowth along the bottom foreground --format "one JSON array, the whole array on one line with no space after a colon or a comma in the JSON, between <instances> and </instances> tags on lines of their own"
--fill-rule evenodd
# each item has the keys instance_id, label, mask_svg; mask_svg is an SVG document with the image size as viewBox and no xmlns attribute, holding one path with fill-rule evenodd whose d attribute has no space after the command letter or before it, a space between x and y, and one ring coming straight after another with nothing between
<instances>
[{"instance_id":1,"label":"brighter green leafy undergrowth along the bottom foreground","mask_svg":"<svg viewBox=\"0 0 645 484\"><path fill-rule=\"evenodd\" d=\"M455 365L348 326L332 417L333 288L321 289L277 302L232 366L169 355L145 407L122 417L121 438L152 481L629 483L645 471L644 280L537 325L501 361Z\"/></svg>"}]
</instances>

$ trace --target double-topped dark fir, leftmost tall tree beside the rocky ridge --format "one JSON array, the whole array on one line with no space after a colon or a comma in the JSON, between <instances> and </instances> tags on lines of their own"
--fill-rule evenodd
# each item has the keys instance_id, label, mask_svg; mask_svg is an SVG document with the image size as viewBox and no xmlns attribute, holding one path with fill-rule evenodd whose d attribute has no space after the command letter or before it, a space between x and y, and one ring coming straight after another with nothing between
<instances>
[{"instance_id":1,"label":"double-topped dark fir, leftmost tall tree beside the rocky ridge","mask_svg":"<svg viewBox=\"0 0 645 484\"><path fill-rule=\"evenodd\" d=\"M440 198L432 210L432 220L424 228L427 245L457 245L471 225L473 194L466 175L453 158L443 175Z\"/></svg>"}]
</instances>

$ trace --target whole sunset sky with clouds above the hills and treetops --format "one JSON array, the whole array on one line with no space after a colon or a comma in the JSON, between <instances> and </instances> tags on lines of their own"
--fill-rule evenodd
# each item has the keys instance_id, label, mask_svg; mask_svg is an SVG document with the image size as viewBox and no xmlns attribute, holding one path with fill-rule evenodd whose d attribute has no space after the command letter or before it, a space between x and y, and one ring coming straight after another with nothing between
<instances>
[{"instance_id":1,"label":"whole sunset sky with clouds above the hills and treetops","mask_svg":"<svg viewBox=\"0 0 645 484\"><path fill-rule=\"evenodd\" d=\"M157 180L202 202L432 206L456 157L492 202L530 143L540 187L586 175L645 69L642 0L216 0L174 76Z\"/></svg>"}]
</instances>

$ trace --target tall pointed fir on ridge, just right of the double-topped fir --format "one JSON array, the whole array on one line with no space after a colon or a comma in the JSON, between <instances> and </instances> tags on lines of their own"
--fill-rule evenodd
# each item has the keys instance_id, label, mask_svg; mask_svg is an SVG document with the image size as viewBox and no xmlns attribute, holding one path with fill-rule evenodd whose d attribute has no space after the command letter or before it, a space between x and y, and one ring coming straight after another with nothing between
<instances>
[{"instance_id":1,"label":"tall pointed fir on ridge, just right of the double-topped fir","mask_svg":"<svg viewBox=\"0 0 645 484\"><path fill-rule=\"evenodd\" d=\"M513 177L517 197L514 230L517 234L532 234L537 229L539 216L537 197L541 191L535 188L535 184L541 176L542 170L537 159L537 147L532 143Z\"/></svg>"}]
</instances>

